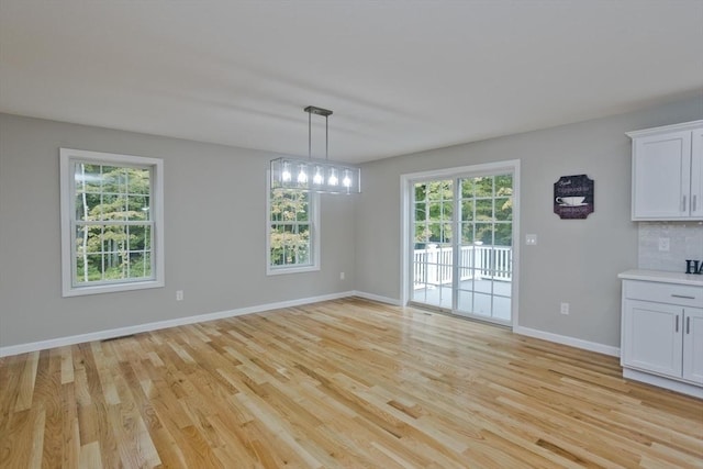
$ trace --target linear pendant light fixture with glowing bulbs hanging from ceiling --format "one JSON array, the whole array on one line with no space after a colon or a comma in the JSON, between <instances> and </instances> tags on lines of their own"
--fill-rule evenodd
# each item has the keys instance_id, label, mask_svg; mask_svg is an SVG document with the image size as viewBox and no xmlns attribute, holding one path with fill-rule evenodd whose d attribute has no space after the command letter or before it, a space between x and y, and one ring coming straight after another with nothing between
<instances>
[{"instance_id":1,"label":"linear pendant light fixture with glowing bulbs hanging from ceiling","mask_svg":"<svg viewBox=\"0 0 703 469\"><path fill-rule=\"evenodd\" d=\"M320 193L360 193L361 169L330 161L327 119L332 111L309 105L308 159L283 156L271 160L271 189L297 189ZM312 157L312 114L325 118L325 159Z\"/></svg>"}]
</instances>

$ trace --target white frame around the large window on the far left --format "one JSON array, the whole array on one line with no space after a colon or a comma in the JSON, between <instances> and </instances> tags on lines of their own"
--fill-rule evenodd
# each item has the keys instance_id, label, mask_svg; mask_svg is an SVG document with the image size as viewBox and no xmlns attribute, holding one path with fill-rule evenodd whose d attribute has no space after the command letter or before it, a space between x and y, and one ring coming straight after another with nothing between
<instances>
[{"instance_id":1,"label":"white frame around the large window on the far left","mask_svg":"<svg viewBox=\"0 0 703 469\"><path fill-rule=\"evenodd\" d=\"M60 216L62 216L62 290L63 297L110 293L164 287L164 160L133 155L60 148ZM145 280L111 280L78 284L76 271L76 185L74 165L78 161L96 165L141 166L150 168L149 212L153 225L152 277Z\"/></svg>"}]
</instances>

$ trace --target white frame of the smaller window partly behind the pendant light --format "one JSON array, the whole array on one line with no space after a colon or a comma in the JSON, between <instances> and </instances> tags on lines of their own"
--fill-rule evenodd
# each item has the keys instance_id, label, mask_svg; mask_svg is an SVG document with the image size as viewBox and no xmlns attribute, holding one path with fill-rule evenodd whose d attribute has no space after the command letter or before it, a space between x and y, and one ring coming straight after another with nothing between
<instances>
[{"instance_id":1,"label":"white frame of the smaller window partly behind the pendant light","mask_svg":"<svg viewBox=\"0 0 703 469\"><path fill-rule=\"evenodd\" d=\"M313 272L320 270L320 194L310 192L309 214L311 264L306 266L274 266L271 265L271 177L266 171L266 275Z\"/></svg>"}]
</instances>

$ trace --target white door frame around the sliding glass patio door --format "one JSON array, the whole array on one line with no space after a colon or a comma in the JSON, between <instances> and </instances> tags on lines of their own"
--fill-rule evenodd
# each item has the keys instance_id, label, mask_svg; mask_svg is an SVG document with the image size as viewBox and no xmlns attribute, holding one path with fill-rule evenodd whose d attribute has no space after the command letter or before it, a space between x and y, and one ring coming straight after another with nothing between
<instances>
[{"instance_id":1,"label":"white door frame around the sliding glass patio door","mask_svg":"<svg viewBox=\"0 0 703 469\"><path fill-rule=\"evenodd\" d=\"M406 305L410 300L413 279L410 276L410 265L412 263L410 250L411 226L410 203L412 200L412 185L419 179L429 178L456 178L464 175L495 174L509 171L513 174L513 280L511 292L511 315L513 330L517 327L518 315L518 283L520 283L520 159L505 161L486 163L480 165L460 166L455 168L435 169L422 172L410 172L400 176L400 271L401 291L400 300L402 305Z\"/></svg>"}]
</instances>

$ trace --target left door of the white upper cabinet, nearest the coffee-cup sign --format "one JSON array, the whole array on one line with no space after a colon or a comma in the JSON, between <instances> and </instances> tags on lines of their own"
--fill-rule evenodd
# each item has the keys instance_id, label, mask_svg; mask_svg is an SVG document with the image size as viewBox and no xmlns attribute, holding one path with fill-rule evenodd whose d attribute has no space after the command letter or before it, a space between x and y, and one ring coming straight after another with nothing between
<instances>
[{"instance_id":1,"label":"left door of the white upper cabinet, nearest the coffee-cup sign","mask_svg":"<svg viewBox=\"0 0 703 469\"><path fill-rule=\"evenodd\" d=\"M633 220L690 213L691 131L639 137L633 152Z\"/></svg>"}]
</instances>

